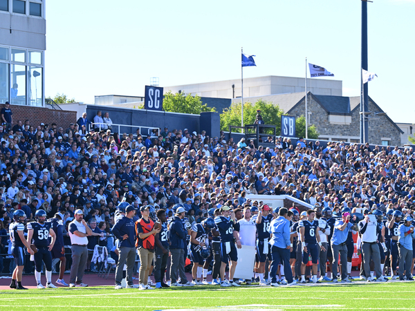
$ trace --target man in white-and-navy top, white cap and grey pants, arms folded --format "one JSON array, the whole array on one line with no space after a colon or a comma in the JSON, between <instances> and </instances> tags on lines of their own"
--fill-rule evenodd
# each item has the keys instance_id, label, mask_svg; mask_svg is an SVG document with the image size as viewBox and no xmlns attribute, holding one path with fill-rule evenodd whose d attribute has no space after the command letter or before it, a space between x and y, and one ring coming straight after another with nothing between
<instances>
[{"instance_id":1,"label":"man in white-and-navy top, white cap and grey pants, arms folded","mask_svg":"<svg viewBox=\"0 0 415 311\"><path fill-rule=\"evenodd\" d=\"M91 228L84 220L82 209L75 211L75 219L68 225L69 237L71 238L72 265L69 287L86 287L87 284L82 282L88 259L88 236L92 234Z\"/></svg>"}]
</instances>

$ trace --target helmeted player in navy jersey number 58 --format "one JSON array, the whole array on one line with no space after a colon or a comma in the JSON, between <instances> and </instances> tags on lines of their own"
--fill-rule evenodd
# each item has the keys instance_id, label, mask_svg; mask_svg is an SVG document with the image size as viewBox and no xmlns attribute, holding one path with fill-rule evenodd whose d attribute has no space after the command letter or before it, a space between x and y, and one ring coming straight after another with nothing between
<instances>
[{"instance_id":1,"label":"helmeted player in navy jersey number 58","mask_svg":"<svg viewBox=\"0 0 415 311\"><path fill-rule=\"evenodd\" d=\"M37 247L35 253L35 279L38 289L44 289L42 285L41 272L42 262L46 267L46 288L57 288L52 284L52 253L55 244L55 232L52 229L52 223L46 222L46 211L38 209L35 213L35 220L28 223L28 243L32 243ZM52 240L49 243L49 236Z\"/></svg>"}]
</instances>

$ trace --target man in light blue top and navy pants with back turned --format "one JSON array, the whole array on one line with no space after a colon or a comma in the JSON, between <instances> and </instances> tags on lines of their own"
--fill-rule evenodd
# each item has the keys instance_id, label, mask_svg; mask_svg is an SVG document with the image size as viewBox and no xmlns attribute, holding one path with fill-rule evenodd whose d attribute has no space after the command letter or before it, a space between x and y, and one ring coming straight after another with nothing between
<instances>
[{"instance_id":1,"label":"man in light blue top and navy pants with back turned","mask_svg":"<svg viewBox=\"0 0 415 311\"><path fill-rule=\"evenodd\" d=\"M276 274L279 263L284 265L284 274L288 285L293 285L293 272L290 265L290 252L293 250L293 243L290 240L290 220L293 217L293 212L282 207L278 214L279 217L271 221L270 229L268 229L268 232L272 234L269 241L273 258L270 270L271 286L278 286Z\"/></svg>"}]
</instances>

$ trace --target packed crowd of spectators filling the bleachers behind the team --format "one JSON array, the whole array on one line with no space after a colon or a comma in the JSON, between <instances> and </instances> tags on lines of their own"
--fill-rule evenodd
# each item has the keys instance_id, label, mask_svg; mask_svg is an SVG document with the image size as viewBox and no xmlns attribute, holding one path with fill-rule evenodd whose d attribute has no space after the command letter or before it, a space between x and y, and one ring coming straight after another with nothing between
<instances>
[{"instance_id":1,"label":"packed crowd of spectators filling the bleachers behind the team","mask_svg":"<svg viewBox=\"0 0 415 311\"><path fill-rule=\"evenodd\" d=\"M0 126L3 274L15 269L8 232L17 210L24 211L26 222L35 220L39 210L48 219L62 221L60 243L66 252L71 245L68 226L75 211L81 210L93 232L88 236L90 253L95 245L107 247L109 253L116 249L117 237L111 228L122 202L136 209L134 220L148 205L155 213L165 210L167 218L181 205L192 226L204 226L221 207L262 210L264 203L252 202L246 198L249 194L293 196L321 210L329 208L333 216L342 216L344 208L351 214L367 214L366 209L385 214L401 211L402 217L414 211L412 149L344 142L327 142L322 147L303 139L293 145L289 138L273 141L266 135L261 139L275 148L255 148L253 141L234 141L223 131L219 137L210 137L205 131L190 132L185 125L167 129L160 123L161 133L149 136L114 133L109 127L95 132L93 126L91 131L86 126L80 129L80 124L63 129L59 124L30 120ZM63 270L69 269L66 263ZM86 269L96 269L91 254ZM33 264L25 264L27 274L34 271ZM202 282L201 274L197 275ZM194 279L197 283L198 278Z\"/></svg>"}]
</instances>

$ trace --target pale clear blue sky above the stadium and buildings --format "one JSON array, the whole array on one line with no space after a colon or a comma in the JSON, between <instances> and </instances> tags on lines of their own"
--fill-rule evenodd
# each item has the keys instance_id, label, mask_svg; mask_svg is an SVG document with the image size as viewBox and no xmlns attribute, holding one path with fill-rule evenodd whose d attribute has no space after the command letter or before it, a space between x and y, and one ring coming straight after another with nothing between
<instances>
[{"instance_id":1,"label":"pale clear blue sky above the stadium and buildings","mask_svg":"<svg viewBox=\"0 0 415 311\"><path fill-rule=\"evenodd\" d=\"M116 3L119 3L118 5ZM415 0L368 3L369 95L395 122L415 116ZM46 96L144 95L160 86L244 77L304 77L308 62L360 94L360 0L46 3Z\"/></svg>"}]
</instances>

